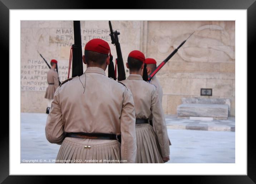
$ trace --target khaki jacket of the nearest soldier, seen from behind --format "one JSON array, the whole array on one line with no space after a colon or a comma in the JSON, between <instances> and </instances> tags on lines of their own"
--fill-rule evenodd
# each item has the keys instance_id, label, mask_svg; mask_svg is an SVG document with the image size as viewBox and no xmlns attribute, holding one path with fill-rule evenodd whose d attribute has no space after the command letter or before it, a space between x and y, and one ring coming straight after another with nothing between
<instances>
[{"instance_id":1,"label":"khaki jacket of the nearest soldier, seen from behind","mask_svg":"<svg viewBox=\"0 0 256 184\"><path fill-rule=\"evenodd\" d=\"M65 132L121 133L121 159L134 163L135 120L131 91L105 76L102 68L88 67L83 75L68 79L57 88L45 134L49 142L61 144Z\"/></svg>"}]
</instances>

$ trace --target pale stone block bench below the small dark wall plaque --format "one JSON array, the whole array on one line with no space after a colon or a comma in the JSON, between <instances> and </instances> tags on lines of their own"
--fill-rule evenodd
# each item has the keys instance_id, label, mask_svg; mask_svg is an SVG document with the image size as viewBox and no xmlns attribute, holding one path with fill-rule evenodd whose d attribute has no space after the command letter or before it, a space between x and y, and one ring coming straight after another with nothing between
<instances>
[{"instance_id":1,"label":"pale stone block bench below the small dark wall plaque","mask_svg":"<svg viewBox=\"0 0 256 184\"><path fill-rule=\"evenodd\" d=\"M218 98L182 98L183 104L177 107L177 116L212 117L212 119L227 119L230 111L230 99Z\"/></svg>"}]
</instances>

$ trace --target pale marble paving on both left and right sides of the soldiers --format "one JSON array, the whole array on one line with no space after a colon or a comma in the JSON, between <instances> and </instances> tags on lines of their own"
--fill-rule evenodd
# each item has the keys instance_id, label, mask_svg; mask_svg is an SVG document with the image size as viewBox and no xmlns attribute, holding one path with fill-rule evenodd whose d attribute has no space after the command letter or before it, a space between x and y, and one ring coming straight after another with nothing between
<instances>
[{"instance_id":1,"label":"pale marble paving on both left and right sides of the soldiers","mask_svg":"<svg viewBox=\"0 0 256 184\"><path fill-rule=\"evenodd\" d=\"M26 163L28 160L34 163L53 163L56 158L60 145L51 144L46 140L46 118L47 114L43 113L21 113L21 163ZM219 123L218 126L228 126L232 124L231 120L226 124L222 121L215 123L217 125ZM189 123L195 127L198 124L205 127L207 125L167 115L168 128L172 127L173 124L170 123L172 121L176 124L186 124L186 126L190 126ZM172 127L168 129L168 135L172 145L170 146L171 160L167 163L235 163L235 132L198 131Z\"/></svg>"}]
</instances>

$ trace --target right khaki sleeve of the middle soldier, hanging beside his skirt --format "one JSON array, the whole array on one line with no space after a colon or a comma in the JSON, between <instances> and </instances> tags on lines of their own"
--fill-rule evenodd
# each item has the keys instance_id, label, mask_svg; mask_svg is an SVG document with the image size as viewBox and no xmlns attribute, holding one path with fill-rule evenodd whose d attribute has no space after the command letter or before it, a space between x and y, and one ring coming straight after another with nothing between
<instances>
[{"instance_id":1,"label":"right khaki sleeve of the middle soldier, hanging beside his skirt","mask_svg":"<svg viewBox=\"0 0 256 184\"><path fill-rule=\"evenodd\" d=\"M157 139L159 142L162 157L170 155L169 138L167 134L167 127L164 118L162 104L158 97L157 89L152 93L151 112L153 114L153 123L156 130Z\"/></svg>"}]
</instances>

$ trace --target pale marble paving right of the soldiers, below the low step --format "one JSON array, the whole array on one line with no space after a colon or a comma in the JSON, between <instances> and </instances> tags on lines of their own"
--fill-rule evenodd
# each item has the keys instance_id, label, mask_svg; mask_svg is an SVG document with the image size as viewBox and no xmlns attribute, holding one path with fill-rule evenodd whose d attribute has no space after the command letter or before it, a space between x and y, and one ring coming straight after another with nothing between
<instances>
[{"instance_id":1,"label":"pale marble paving right of the soldiers, below the low step","mask_svg":"<svg viewBox=\"0 0 256 184\"><path fill-rule=\"evenodd\" d=\"M167 163L235 163L235 132L168 129Z\"/></svg>"}]
</instances>

